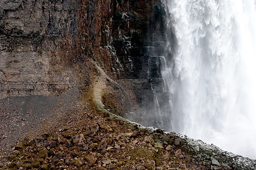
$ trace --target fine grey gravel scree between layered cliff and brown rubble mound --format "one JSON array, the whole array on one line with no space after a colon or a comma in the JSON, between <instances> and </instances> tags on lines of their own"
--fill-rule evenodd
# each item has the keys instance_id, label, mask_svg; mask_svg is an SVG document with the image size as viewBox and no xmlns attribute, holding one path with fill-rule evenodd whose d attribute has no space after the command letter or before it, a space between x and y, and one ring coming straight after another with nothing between
<instances>
[{"instance_id":1,"label":"fine grey gravel scree between layered cliff and brown rubble mound","mask_svg":"<svg viewBox=\"0 0 256 170\"><path fill-rule=\"evenodd\" d=\"M24 96L0 100L0 152L8 154L11 146L28 133L75 112L79 108L79 96L78 88L73 88L60 96Z\"/></svg>"}]
</instances>

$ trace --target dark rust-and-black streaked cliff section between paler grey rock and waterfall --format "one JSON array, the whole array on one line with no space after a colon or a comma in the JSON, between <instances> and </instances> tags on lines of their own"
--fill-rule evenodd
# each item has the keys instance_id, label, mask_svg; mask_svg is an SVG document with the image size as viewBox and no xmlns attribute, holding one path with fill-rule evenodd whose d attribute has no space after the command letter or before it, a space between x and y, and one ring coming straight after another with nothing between
<instances>
[{"instance_id":1,"label":"dark rust-and-black streaked cliff section between paler grey rock and waterfall","mask_svg":"<svg viewBox=\"0 0 256 170\"><path fill-rule=\"evenodd\" d=\"M82 52L117 78L138 78L135 58L144 56L157 0L82 1Z\"/></svg>"}]
</instances>

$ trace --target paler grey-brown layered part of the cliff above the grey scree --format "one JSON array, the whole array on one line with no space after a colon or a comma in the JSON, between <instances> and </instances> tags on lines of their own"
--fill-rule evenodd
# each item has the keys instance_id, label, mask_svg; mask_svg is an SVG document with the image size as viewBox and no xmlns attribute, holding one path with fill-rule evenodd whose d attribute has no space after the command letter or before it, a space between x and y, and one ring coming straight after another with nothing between
<instances>
[{"instance_id":1,"label":"paler grey-brown layered part of the cliff above the grey scree","mask_svg":"<svg viewBox=\"0 0 256 170\"><path fill-rule=\"evenodd\" d=\"M75 86L67 62L77 53L78 11L77 1L0 2L0 99Z\"/></svg>"}]
</instances>

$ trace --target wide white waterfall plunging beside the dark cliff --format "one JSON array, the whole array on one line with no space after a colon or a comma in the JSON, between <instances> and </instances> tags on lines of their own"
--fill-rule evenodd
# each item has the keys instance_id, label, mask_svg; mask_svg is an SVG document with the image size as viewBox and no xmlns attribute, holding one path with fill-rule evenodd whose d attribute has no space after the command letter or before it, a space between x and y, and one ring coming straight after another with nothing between
<instances>
[{"instance_id":1,"label":"wide white waterfall plunging beside the dark cliff","mask_svg":"<svg viewBox=\"0 0 256 170\"><path fill-rule=\"evenodd\" d=\"M255 1L164 3L177 41L174 66L164 74L169 130L256 159Z\"/></svg>"}]
</instances>

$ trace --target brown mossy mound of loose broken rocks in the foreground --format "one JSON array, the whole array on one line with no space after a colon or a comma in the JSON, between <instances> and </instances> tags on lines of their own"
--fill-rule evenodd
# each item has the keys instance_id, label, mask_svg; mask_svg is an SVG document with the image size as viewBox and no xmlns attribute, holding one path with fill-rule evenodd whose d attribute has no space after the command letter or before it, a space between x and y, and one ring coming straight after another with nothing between
<instances>
[{"instance_id":1,"label":"brown mossy mound of loose broken rocks in the foreground","mask_svg":"<svg viewBox=\"0 0 256 170\"><path fill-rule=\"evenodd\" d=\"M2 169L255 169L255 162L199 145L175 133L146 129L107 112L28 137L1 159ZM237 158L243 161L238 162Z\"/></svg>"}]
</instances>

